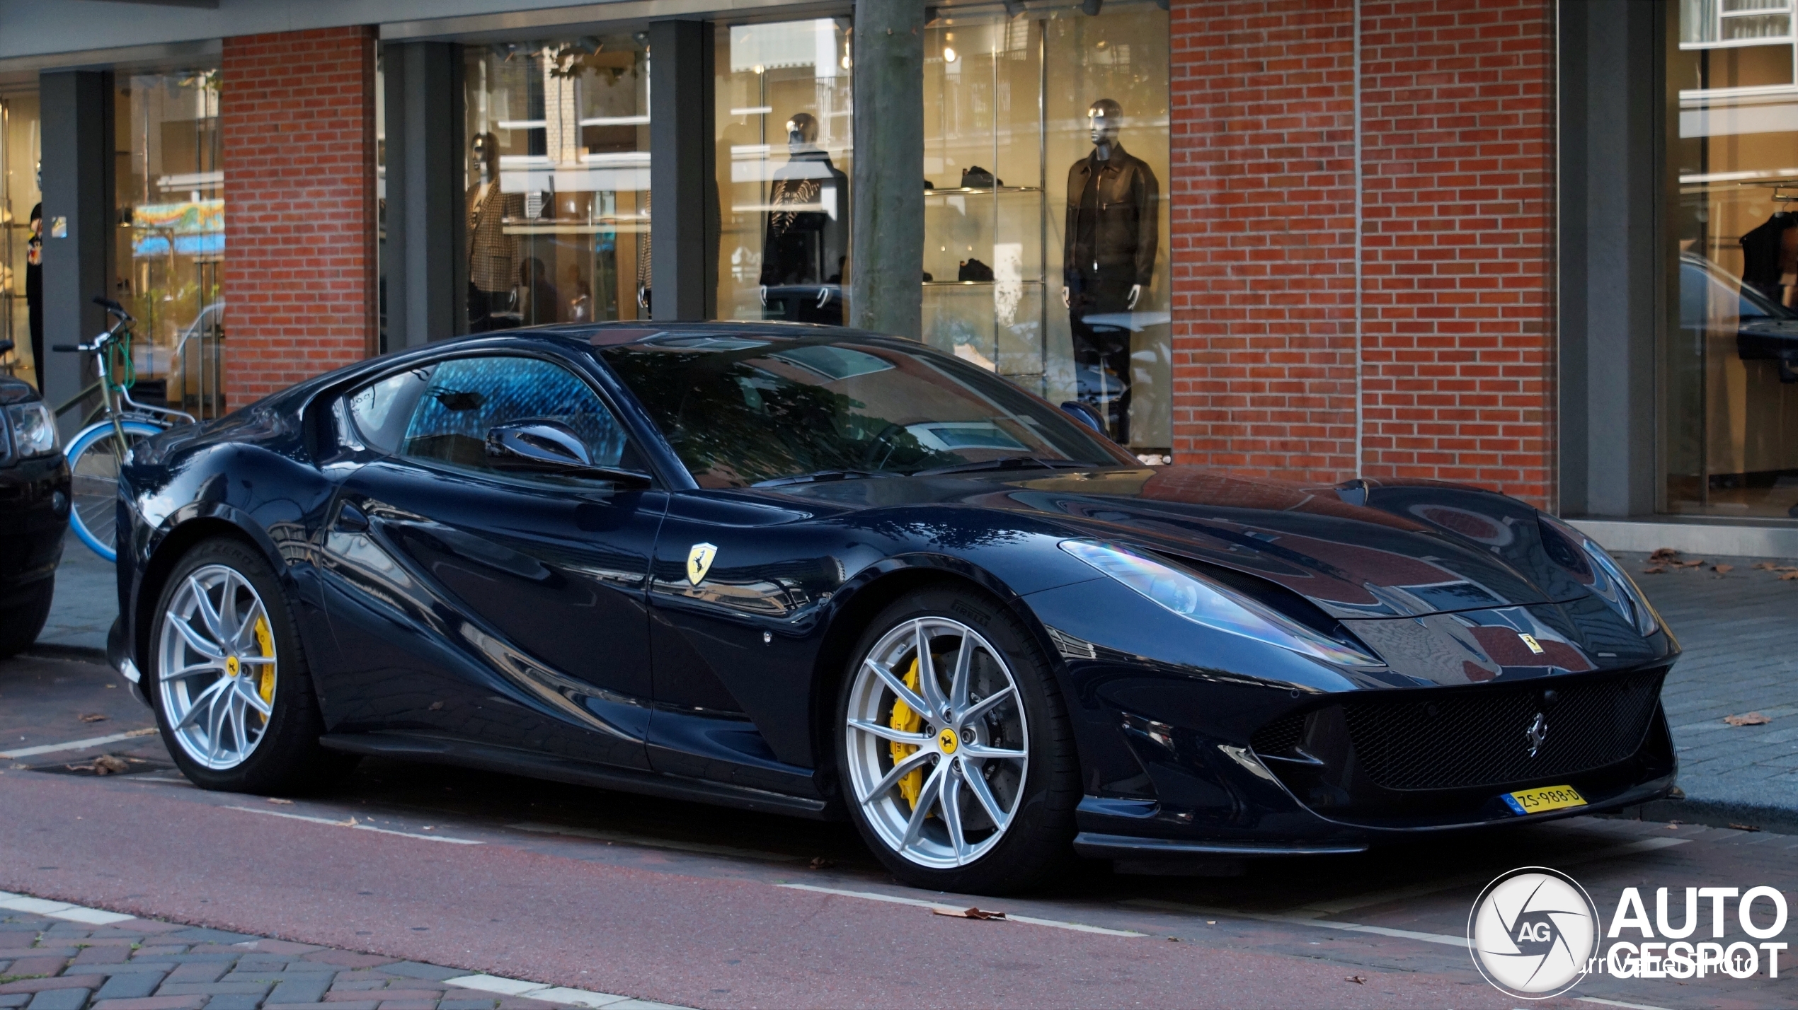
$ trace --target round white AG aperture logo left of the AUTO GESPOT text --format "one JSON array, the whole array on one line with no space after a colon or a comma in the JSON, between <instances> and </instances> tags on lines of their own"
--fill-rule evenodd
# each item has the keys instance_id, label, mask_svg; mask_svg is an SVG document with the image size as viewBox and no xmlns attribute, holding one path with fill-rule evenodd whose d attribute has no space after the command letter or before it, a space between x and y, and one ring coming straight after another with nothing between
<instances>
[{"instance_id":1,"label":"round white AG aperture logo left of the AUTO GESPOT text","mask_svg":"<svg viewBox=\"0 0 1798 1010\"><path fill-rule=\"evenodd\" d=\"M1467 949L1505 996L1546 999L1573 988L1598 949L1598 911L1573 877L1544 866L1485 886L1467 915Z\"/></svg>"}]
</instances>

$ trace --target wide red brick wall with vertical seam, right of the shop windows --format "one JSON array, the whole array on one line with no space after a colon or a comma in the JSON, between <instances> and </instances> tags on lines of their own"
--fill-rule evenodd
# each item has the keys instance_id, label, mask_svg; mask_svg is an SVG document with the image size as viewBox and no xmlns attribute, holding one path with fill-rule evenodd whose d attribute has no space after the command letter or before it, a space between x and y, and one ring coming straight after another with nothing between
<instances>
[{"instance_id":1,"label":"wide red brick wall with vertical seam, right of the shop windows","mask_svg":"<svg viewBox=\"0 0 1798 1010\"><path fill-rule=\"evenodd\" d=\"M1174 455L1553 494L1552 7L1174 5Z\"/></svg>"}]
</instances>

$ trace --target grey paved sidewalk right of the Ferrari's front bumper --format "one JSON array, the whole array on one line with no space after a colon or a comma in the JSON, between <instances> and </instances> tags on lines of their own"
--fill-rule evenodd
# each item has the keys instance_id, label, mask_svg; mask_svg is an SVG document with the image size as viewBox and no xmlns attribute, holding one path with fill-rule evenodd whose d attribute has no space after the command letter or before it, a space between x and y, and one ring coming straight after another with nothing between
<instances>
[{"instance_id":1,"label":"grey paved sidewalk right of the Ferrari's front bumper","mask_svg":"<svg viewBox=\"0 0 1798 1010\"><path fill-rule=\"evenodd\" d=\"M1685 649L1661 699L1687 803L1661 803L1647 816L1678 818L1685 807L1688 820L1705 823L1798 830L1798 580L1757 570L1769 559L1755 557L1705 557L1660 575L1643 573L1647 555L1618 559ZM1717 571L1719 564L1730 570ZM1771 722L1722 721L1749 712Z\"/></svg>"}]
</instances>

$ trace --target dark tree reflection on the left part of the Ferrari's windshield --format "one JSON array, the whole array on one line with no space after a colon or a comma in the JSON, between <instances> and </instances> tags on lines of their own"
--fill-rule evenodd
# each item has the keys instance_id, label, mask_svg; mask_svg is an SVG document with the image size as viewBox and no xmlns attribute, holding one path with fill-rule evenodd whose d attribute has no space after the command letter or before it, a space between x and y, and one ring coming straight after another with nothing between
<instances>
[{"instance_id":1,"label":"dark tree reflection on the left part of the Ferrari's windshield","mask_svg":"<svg viewBox=\"0 0 1798 1010\"><path fill-rule=\"evenodd\" d=\"M608 354L703 485L743 485L831 469L912 471L962 462L822 385L755 367L750 352Z\"/></svg>"}]
</instances>

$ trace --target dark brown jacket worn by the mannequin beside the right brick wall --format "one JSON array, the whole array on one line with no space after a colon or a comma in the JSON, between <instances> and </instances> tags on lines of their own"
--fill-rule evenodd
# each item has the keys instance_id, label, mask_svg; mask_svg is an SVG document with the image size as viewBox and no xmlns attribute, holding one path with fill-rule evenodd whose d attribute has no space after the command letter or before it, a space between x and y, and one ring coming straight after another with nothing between
<instances>
[{"instance_id":1,"label":"dark brown jacket worn by the mannequin beside the right brick wall","mask_svg":"<svg viewBox=\"0 0 1798 1010\"><path fill-rule=\"evenodd\" d=\"M1099 173L1095 199L1082 210L1081 198ZM1156 201L1162 187L1147 162L1122 144L1111 144L1111 156L1093 155L1068 169L1068 228L1063 239L1061 270L1066 284L1097 271L1129 273L1131 284L1147 286L1154 277L1154 250L1160 241ZM1081 228L1082 214L1091 214ZM1097 262L1097 268L1093 266Z\"/></svg>"}]
</instances>

